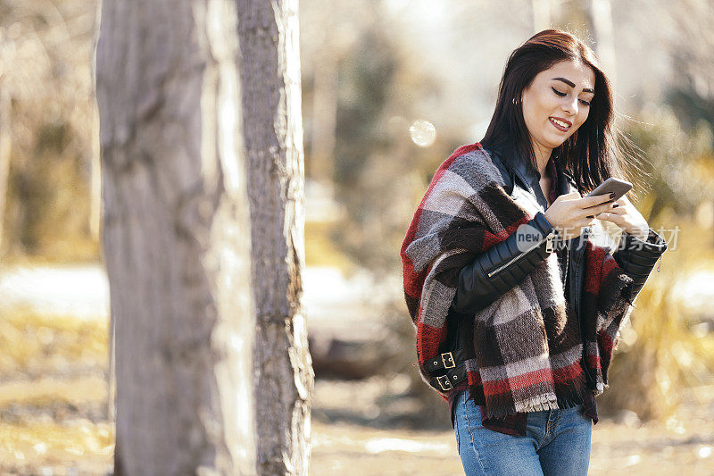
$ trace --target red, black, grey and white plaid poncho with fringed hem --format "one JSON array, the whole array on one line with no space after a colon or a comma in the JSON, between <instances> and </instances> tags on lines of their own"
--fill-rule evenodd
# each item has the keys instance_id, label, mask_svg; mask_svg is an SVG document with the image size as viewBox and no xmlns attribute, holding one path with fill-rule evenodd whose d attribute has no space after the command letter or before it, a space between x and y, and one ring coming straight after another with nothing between
<instances>
[{"instance_id":1,"label":"red, black, grey and white plaid poncho with fringed hem","mask_svg":"<svg viewBox=\"0 0 714 476\"><path fill-rule=\"evenodd\" d=\"M446 338L446 316L459 271L477 255L508 238L540 211L535 197L516 201L502 188L500 172L476 143L461 146L436 170L414 214L401 249L404 296L416 326L419 372ZM620 326L632 310L622 271L610 249L585 242L581 322L563 296L555 254L519 285L473 315L473 352L466 362L469 388L478 388L488 418L566 408L607 388ZM470 316L469 316L470 318ZM468 343L467 343L468 345ZM448 400L448 393L440 393ZM472 391L473 395L473 391Z\"/></svg>"}]
</instances>

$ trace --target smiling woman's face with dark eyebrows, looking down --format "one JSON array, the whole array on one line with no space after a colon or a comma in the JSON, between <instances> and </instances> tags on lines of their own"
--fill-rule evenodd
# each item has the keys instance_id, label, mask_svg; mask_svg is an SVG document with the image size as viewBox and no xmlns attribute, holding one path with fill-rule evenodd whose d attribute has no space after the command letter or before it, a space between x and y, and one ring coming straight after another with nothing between
<instances>
[{"instance_id":1,"label":"smiling woman's face with dark eyebrows, looking down","mask_svg":"<svg viewBox=\"0 0 714 476\"><path fill-rule=\"evenodd\" d=\"M539 72L523 90L523 119L535 153L550 156L587 119L595 73L586 64L561 61Z\"/></svg>"}]
</instances>

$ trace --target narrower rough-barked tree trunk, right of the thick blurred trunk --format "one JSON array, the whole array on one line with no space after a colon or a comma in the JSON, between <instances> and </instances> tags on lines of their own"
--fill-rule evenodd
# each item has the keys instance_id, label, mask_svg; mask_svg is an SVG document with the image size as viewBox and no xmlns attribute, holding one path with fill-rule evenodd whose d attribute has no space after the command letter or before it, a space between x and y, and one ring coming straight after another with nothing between
<instances>
[{"instance_id":1,"label":"narrower rough-barked tree trunk, right of the thick blurred trunk","mask_svg":"<svg viewBox=\"0 0 714 476\"><path fill-rule=\"evenodd\" d=\"M307 474L314 373L302 313L297 0L238 0L256 306L258 472Z\"/></svg>"}]
</instances>

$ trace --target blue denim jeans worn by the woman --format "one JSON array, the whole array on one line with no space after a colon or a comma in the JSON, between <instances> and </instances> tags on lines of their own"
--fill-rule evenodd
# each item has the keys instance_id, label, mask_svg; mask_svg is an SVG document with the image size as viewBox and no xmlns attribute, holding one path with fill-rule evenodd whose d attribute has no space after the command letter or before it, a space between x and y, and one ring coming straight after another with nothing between
<instances>
[{"instance_id":1,"label":"blue denim jeans worn by the woman","mask_svg":"<svg viewBox=\"0 0 714 476\"><path fill-rule=\"evenodd\" d=\"M454 406L456 445L467 476L587 474L593 421L583 405L528 413L525 436L484 428L468 390L456 396Z\"/></svg>"}]
</instances>

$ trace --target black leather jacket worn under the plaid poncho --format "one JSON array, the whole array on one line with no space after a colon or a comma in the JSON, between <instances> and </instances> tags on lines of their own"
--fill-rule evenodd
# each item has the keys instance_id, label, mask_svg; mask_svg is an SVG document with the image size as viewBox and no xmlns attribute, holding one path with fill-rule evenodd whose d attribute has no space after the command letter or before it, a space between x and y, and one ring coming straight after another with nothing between
<instances>
[{"instance_id":1,"label":"black leather jacket worn under the plaid poncho","mask_svg":"<svg viewBox=\"0 0 714 476\"><path fill-rule=\"evenodd\" d=\"M485 253L478 255L472 262L464 266L459 274L456 296L452 302L452 311L458 314L473 314L478 309L483 309L491 304L513 286L525 279L527 273L533 271L549 253L546 250L546 236L554 231L552 225L545 219L543 212L548 206L543 190L540 187L540 174L533 171L523 161L509 161L504 159L502 153L492 147L486 147L491 154L494 164L502 173L505 190L511 196L518 194L531 194L542 207L542 212L535 214L529 222L532 225L530 232L539 230L541 237L536 242L540 245L534 249L523 252L516 243L519 242L520 229L512 233L509 238L492 246ZM557 183L559 194L569 192L569 183L573 181L560 169L556 163ZM567 270L566 278L569 288L566 289L570 304L576 314L580 315L580 299L584 284L584 241L587 239L589 228L585 228L582 235L569 240L568 251L563 252L561 263ZM542 241L541 241L542 240ZM522 242L522 241L521 241ZM660 255L667 249L667 243L652 229L646 242L625 233L623 245L614 252L613 257L623 271L633 279L626 298L632 303L635 296L643 288L644 282L650 275L654 264ZM563 283L565 284L565 282Z\"/></svg>"}]
</instances>

